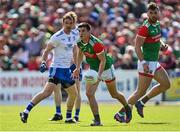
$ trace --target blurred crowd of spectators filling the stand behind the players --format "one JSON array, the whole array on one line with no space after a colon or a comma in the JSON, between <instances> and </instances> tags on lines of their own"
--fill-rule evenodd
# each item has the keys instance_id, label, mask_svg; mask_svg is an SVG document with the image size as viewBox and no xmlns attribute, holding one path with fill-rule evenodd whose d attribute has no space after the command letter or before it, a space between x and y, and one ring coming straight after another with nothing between
<instances>
[{"instance_id":1,"label":"blurred crowd of spectators filling the stand behind the players","mask_svg":"<svg viewBox=\"0 0 180 132\"><path fill-rule=\"evenodd\" d=\"M179 0L154 0L160 6L160 52L165 69L180 68ZM62 16L75 11L79 22L89 22L102 39L115 68L136 69L134 39L147 18L149 0L0 0L0 70L38 70L42 51L62 27ZM49 55L49 62L52 55ZM87 65L84 63L83 68Z\"/></svg>"}]
</instances>

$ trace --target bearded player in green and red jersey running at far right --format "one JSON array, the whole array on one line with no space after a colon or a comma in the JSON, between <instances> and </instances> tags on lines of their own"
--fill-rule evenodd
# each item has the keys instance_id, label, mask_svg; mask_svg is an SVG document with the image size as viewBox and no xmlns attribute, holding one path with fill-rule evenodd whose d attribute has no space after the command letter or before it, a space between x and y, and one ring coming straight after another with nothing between
<instances>
[{"instance_id":1,"label":"bearded player in green and red jersey running at far right","mask_svg":"<svg viewBox=\"0 0 180 132\"><path fill-rule=\"evenodd\" d=\"M161 30L160 22L158 21L159 8L156 3L151 2L148 4L147 16L148 19L145 20L140 27L135 39L135 51L139 58L138 87L128 99L129 104L135 104L137 112L141 117L144 117L144 104L149 99L170 88L168 74L158 62L160 49L165 51L167 50L168 45L160 40ZM158 84L146 93L152 79L155 79Z\"/></svg>"}]
</instances>

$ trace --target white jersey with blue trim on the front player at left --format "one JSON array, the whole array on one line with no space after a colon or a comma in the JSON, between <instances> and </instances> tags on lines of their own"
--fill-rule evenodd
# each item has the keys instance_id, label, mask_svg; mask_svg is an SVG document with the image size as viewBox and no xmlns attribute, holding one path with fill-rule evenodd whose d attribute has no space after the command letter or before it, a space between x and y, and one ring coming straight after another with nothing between
<instances>
[{"instance_id":1,"label":"white jersey with blue trim on the front player at left","mask_svg":"<svg viewBox=\"0 0 180 132\"><path fill-rule=\"evenodd\" d=\"M63 29L51 36L48 44L53 45L53 60L51 67L69 68L73 58L73 47L79 39L79 32L74 29L66 34Z\"/></svg>"}]
</instances>

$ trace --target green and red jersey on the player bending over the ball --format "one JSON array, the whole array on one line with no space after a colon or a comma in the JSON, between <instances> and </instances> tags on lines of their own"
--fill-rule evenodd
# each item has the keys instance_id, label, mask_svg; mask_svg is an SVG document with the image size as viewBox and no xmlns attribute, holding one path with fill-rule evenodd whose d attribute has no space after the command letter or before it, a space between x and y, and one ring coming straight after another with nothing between
<instances>
[{"instance_id":1,"label":"green and red jersey on the player bending over the ball","mask_svg":"<svg viewBox=\"0 0 180 132\"><path fill-rule=\"evenodd\" d=\"M100 60L97 55L104 51L104 45L102 41L93 35L90 35L89 42L84 43L82 40L77 41L78 47L86 56L86 62L90 65L90 69L98 72ZM105 69L109 69L113 64L113 59L105 52L106 64Z\"/></svg>"}]
</instances>

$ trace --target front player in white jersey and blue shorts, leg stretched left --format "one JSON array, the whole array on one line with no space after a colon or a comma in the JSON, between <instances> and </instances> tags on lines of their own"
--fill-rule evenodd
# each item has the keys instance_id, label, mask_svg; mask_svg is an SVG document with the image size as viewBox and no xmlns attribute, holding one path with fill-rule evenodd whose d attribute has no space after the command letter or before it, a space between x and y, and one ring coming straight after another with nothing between
<instances>
[{"instance_id":1,"label":"front player in white jersey and blue shorts, leg stretched left","mask_svg":"<svg viewBox=\"0 0 180 132\"><path fill-rule=\"evenodd\" d=\"M25 110L20 113L23 123L27 122L29 112L32 108L43 99L49 97L58 87L58 84L68 93L65 122L76 123L76 121L72 119L71 113L77 96L77 89L75 81L71 77L70 70L73 51L76 51L74 48L76 48L75 45L78 39L78 35L72 31L74 23L75 19L72 17L71 13L66 13L63 16L63 28L50 38L43 52L40 66L40 72L44 72L47 69L46 60L48 54L53 50L53 60L49 69L49 80L45 84L44 89L36 94Z\"/></svg>"}]
</instances>

